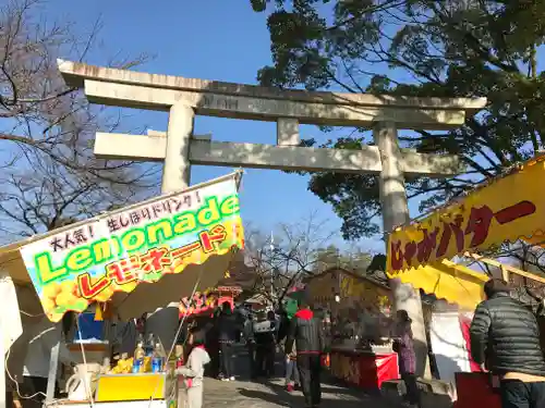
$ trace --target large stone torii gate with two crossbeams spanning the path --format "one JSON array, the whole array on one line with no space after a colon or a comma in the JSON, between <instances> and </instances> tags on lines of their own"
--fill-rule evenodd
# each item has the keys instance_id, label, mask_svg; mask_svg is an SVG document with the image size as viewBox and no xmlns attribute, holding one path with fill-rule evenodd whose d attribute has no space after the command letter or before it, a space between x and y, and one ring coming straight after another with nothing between
<instances>
[{"instance_id":1,"label":"large stone torii gate with two crossbeams spanning the path","mask_svg":"<svg viewBox=\"0 0 545 408\"><path fill-rule=\"evenodd\" d=\"M400 149L397 132L450 129L486 104L485 98L411 98L304 90L192 79L58 61L68 85L83 88L94 103L169 112L166 133L97 133L102 158L162 161L162 191L190 184L193 164L376 174L385 233L409 221L404 175L447 177L463 169L456 156ZM277 122L277 145L213 141L193 135L195 114ZM375 146L361 150L300 147L299 124L373 128ZM409 311L419 374L428 372L420 295L392 282L397 309Z\"/></svg>"}]
</instances>

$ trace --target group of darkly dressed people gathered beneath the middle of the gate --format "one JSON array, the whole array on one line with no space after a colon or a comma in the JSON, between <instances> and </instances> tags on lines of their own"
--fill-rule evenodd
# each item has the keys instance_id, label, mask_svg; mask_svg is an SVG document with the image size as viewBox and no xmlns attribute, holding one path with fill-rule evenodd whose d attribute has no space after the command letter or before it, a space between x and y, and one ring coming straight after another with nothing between
<instances>
[{"instance_id":1,"label":"group of darkly dressed people gathered beneath the middle of the gate","mask_svg":"<svg viewBox=\"0 0 545 408\"><path fill-rule=\"evenodd\" d=\"M299 311L292 319L284 310L269 310L263 321L257 321L253 313L235 313L226 302L211 317L201 321L191 319L179 342L190 344L193 349L195 339L203 344L209 356L204 369L208 375L220 381L235 380L232 366L235 343L242 341L245 344L252 379L275 376L275 362L281 353L284 356L286 390L301 388L306 405L318 407L322 394L320 358L327 345L323 319L315 316L305 302L300 302Z\"/></svg>"}]
</instances>

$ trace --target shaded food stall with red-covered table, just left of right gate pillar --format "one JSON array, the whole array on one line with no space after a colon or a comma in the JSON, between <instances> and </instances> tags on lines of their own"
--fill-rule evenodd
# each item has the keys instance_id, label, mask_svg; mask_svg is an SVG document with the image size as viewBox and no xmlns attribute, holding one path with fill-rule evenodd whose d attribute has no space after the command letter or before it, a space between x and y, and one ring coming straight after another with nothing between
<instances>
[{"instance_id":1,"label":"shaded food stall with red-covered table, just left of right gate pillar","mask_svg":"<svg viewBox=\"0 0 545 408\"><path fill-rule=\"evenodd\" d=\"M399 378L398 356L391 349L388 286L332 268L307 281L314 308L330 314L331 374L368 391Z\"/></svg>"}]
</instances>

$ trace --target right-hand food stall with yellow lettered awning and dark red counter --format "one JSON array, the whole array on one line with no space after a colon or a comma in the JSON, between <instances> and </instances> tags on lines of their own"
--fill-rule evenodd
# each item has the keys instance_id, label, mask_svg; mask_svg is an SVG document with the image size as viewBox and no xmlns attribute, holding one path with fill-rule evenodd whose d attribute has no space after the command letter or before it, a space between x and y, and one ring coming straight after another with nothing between
<instances>
[{"instance_id":1,"label":"right-hand food stall with yellow lettered awning and dark red counter","mask_svg":"<svg viewBox=\"0 0 545 408\"><path fill-rule=\"evenodd\" d=\"M440 271L445 265L451 265L449 260L456 256L482 261L484 259L479 252L518 239L543 247L545 196L536 186L543 183L544 177L545 157L541 156L486 181L432 214L398 227L388 242L389 277L434 292L433 283L426 276L428 270ZM509 280L509 272L532 277L529 272L499 265L506 280ZM452 283L469 282L469 287L473 289L456 293L447 289L443 292L443 297L451 301L463 301L463 296L475 297L475 284L479 284L475 272L441 276ZM486 280L481 280L481 292ZM538 277L536 280L540 281ZM499 397L486 373L459 373L456 386L459 407L499 407Z\"/></svg>"}]
</instances>

